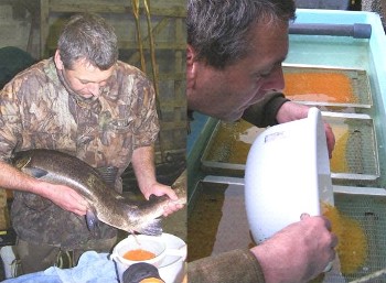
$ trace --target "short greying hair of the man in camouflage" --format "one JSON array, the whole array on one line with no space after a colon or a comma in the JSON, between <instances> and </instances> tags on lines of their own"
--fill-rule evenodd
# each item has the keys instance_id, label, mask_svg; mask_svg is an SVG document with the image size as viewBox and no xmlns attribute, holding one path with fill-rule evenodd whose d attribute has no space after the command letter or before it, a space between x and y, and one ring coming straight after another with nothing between
<instances>
[{"instance_id":1,"label":"short greying hair of the man in camouflage","mask_svg":"<svg viewBox=\"0 0 386 283\"><path fill-rule=\"evenodd\" d=\"M64 26L57 48L65 68L77 59L86 59L99 69L110 68L118 59L117 35L100 15L73 15Z\"/></svg>"}]
</instances>

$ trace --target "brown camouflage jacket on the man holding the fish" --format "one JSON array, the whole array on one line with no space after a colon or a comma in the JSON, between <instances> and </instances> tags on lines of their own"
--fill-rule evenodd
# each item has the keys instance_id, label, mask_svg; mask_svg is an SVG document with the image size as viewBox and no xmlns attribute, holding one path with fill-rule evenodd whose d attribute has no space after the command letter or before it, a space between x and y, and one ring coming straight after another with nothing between
<instances>
[{"instance_id":1,"label":"brown camouflage jacket on the man holding the fish","mask_svg":"<svg viewBox=\"0 0 386 283\"><path fill-rule=\"evenodd\" d=\"M94 167L116 167L121 193L133 150L151 145L159 132L154 91L139 69L118 62L100 92L97 100L72 92L52 58L18 74L0 92L0 159L29 149L64 151ZM30 193L14 192L11 217L25 241L75 249L95 239L84 217ZM101 224L97 239L116 232Z\"/></svg>"}]
</instances>

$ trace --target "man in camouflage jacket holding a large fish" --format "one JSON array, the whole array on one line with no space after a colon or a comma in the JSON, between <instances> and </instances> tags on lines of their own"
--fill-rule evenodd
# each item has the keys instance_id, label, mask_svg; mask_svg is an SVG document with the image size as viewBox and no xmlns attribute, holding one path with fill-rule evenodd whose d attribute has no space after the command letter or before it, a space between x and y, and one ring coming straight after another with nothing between
<instances>
[{"instance_id":1,"label":"man in camouflage jacket holding a large fish","mask_svg":"<svg viewBox=\"0 0 386 283\"><path fill-rule=\"evenodd\" d=\"M154 91L139 69L118 59L111 26L95 14L73 17L54 57L18 74L0 92L0 187L14 191L12 222L24 273L53 265L63 251L109 251L117 230L84 220L87 203L75 191L32 178L8 162L12 153L53 149L120 175L132 162L146 198L174 192L156 181L153 142L159 131ZM171 204L164 215L180 209Z\"/></svg>"}]
</instances>

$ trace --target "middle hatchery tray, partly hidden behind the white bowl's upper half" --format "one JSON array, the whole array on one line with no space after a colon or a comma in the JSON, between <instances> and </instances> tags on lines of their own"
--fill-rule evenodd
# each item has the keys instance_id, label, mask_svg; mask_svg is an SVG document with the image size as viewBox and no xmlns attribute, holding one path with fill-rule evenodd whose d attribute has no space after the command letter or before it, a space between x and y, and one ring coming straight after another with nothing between
<instances>
[{"instance_id":1,"label":"middle hatchery tray, partly hidden behind the white bowl's upper half","mask_svg":"<svg viewBox=\"0 0 386 283\"><path fill-rule=\"evenodd\" d=\"M333 179L374 181L379 177L377 142L373 119L367 115L322 112L335 134L330 161ZM207 173L244 176L249 149L264 131L244 120L219 121L202 156Z\"/></svg>"}]
</instances>

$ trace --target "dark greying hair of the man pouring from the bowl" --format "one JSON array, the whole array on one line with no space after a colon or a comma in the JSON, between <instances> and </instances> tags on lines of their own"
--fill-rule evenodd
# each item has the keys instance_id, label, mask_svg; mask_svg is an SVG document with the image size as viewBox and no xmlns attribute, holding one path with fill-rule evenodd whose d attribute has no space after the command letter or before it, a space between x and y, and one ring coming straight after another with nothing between
<instances>
[{"instance_id":1,"label":"dark greying hair of the man pouring from the bowl","mask_svg":"<svg viewBox=\"0 0 386 283\"><path fill-rule=\"evenodd\" d=\"M248 54L249 31L294 19L292 0L187 0L187 43L197 61L222 69Z\"/></svg>"}]
</instances>

